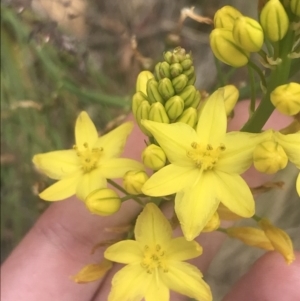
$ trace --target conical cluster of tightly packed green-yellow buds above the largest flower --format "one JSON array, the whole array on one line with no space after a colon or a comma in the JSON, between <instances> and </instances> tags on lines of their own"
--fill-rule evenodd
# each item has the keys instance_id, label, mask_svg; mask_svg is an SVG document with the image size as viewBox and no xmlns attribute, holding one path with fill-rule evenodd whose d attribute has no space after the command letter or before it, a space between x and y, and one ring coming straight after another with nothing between
<instances>
[{"instance_id":1,"label":"conical cluster of tightly packed green-yellow buds above the largest flower","mask_svg":"<svg viewBox=\"0 0 300 301\"><path fill-rule=\"evenodd\" d=\"M151 136L141 124L142 119L196 125L201 95L194 86L195 80L192 56L181 47L165 52L164 61L156 64L154 74L139 74L132 111L146 135Z\"/></svg>"}]
</instances>

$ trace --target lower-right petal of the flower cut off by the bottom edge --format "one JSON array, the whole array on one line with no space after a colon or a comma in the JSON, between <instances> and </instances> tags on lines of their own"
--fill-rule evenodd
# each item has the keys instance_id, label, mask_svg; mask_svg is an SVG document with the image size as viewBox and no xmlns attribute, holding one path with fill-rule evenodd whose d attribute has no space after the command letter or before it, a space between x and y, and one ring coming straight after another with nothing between
<instances>
[{"instance_id":1,"label":"lower-right petal of the flower cut off by the bottom edge","mask_svg":"<svg viewBox=\"0 0 300 301\"><path fill-rule=\"evenodd\" d=\"M212 301L212 294L201 272L193 265L170 262L167 273L160 273L165 285L171 290L199 301Z\"/></svg>"}]
</instances>

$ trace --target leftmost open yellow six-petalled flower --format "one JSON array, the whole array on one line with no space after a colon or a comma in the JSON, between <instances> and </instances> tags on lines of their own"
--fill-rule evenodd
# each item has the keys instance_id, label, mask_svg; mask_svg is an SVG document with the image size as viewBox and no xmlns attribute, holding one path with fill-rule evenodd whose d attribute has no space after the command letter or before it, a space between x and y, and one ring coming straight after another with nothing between
<instances>
[{"instance_id":1,"label":"leftmost open yellow six-petalled flower","mask_svg":"<svg viewBox=\"0 0 300 301\"><path fill-rule=\"evenodd\" d=\"M33 163L49 178L59 180L40 197L59 201L74 194L84 200L87 195L107 186L106 179L121 178L129 170L141 170L143 165L131 159L117 158L123 152L133 124L120 125L98 137L95 125L86 112L81 112L75 125L76 145L71 150L38 154Z\"/></svg>"}]
</instances>

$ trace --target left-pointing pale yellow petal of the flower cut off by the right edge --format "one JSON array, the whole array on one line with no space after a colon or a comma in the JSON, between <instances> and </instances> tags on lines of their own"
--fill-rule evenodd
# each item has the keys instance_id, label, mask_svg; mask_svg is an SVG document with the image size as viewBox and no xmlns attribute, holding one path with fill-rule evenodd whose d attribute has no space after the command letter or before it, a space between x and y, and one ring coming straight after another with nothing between
<instances>
[{"instance_id":1,"label":"left-pointing pale yellow petal of the flower cut off by the right edge","mask_svg":"<svg viewBox=\"0 0 300 301\"><path fill-rule=\"evenodd\" d=\"M275 139L283 147L289 160L300 168L300 131L294 134L283 135L275 132Z\"/></svg>"}]
</instances>

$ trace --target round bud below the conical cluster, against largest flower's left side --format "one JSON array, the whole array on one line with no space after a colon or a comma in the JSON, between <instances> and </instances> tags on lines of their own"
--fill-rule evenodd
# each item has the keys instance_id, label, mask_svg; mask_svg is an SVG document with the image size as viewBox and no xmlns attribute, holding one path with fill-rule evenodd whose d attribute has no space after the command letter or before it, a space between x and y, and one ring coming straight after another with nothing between
<instances>
[{"instance_id":1,"label":"round bud below the conical cluster, against largest flower's left side","mask_svg":"<svg viewBox=\"0 0 300 301\"><path fill-rule=\"evenodd\" d=\"M166 165L167 157L161 147L150 144L143 150L142 160L145 166L159 170Z\"/></svg>"}]
</instances>

